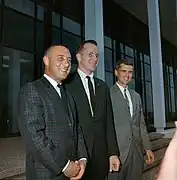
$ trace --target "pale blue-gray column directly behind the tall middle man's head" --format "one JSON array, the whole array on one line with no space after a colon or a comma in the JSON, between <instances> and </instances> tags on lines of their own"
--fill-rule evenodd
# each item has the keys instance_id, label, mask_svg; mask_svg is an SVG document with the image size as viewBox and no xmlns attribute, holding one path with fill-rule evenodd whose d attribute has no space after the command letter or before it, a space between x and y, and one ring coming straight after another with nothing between
<instances>
[{"instance_id":1,"label":"pale blue-gray column directly behind the tall middle man's head","mask_svg":"<svg viewBox=\"0 0 177 180\"><path fill-rule=\"evenodd\" d=\"M102 0L84 0L85 2L85 40L93 39L98 43L99 64L96 76L105 80L104 68L104 31Z\"/></svg>"}]
</instances>

